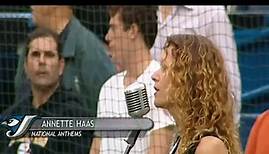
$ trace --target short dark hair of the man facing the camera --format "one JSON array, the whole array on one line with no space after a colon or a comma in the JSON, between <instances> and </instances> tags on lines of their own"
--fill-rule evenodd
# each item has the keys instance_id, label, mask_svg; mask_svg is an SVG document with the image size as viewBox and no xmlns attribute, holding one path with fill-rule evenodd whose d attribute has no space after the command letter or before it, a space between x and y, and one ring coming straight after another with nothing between
<instances>
[{"instance_id":1,"label":"short dark hair of the man facing the camera","mask_svg":"<svg viewBox=\"0 0 269 154\"><path fill-rule=\"evenodd\" d=\"M61 49L61 42L60 42L60 37L59 35L47 28L44 27L39 27L37 29L35 29L33 32L31 32L28 35L27 41L26 41L26 49L25 49L25 57L27 57L28 53L29 53L29 45L30 43L37 39L37 38L41 38L41 37L51 37L53 38L53 40L55 41L55 43L57 44L57 52L58 52L58 56L59 58L62 57L62 49Z\"/></svg>"}]
</instances>

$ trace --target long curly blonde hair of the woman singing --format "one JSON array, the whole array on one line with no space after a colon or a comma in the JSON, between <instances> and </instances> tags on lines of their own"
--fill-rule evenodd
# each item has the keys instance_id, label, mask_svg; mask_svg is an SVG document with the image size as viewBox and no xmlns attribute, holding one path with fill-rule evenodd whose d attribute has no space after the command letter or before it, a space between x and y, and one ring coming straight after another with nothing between
<instances>
[{"instance_id":1,"label":"long curly blonde hair of the woman singing","mask_svg":"<svg viewBox=\"0 0 269 154\"><path fill-rule=\"evenodd\" d=\"M170 45L174 48L167 72L171 77L168 110L180 121L179 153L184 154L207 134L220 138L229 154L242 153L233 116L234 100L220 51L201 35L172 35L166 42L166 47Z\"/></svg>"}]
</instances>

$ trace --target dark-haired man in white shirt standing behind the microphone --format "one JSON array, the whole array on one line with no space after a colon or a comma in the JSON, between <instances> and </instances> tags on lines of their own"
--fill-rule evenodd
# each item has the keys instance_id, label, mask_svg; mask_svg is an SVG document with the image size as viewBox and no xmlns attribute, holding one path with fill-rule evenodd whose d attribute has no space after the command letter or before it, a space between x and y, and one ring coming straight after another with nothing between
<instances>
[{"instance_id":1,"label":"dark-haired man in white shirt standing behind the microphone","mask_svg":"<svg viewBox=\"0 0 269 154\"><path fill-rule=\"evenodd\" d=\"M135 82L147 88L150 111L145 115L154 121L154 128L138 138L130 153L164 154L169 151L173 119L153 102L151 75L160 68L152 59L150 48L157 34L156 6L109 7L109 30L106 34L112 61L122 71L112 76L102 87L98 103L98 117L129 117L124 89ZM101 141L100 141L101 140ZM101 143L100 143L101 142ZM92 153L124 153L127 143L123 138L95 138ZM99 146L101 147L99 149ZM94 146L96 145L96 146Z\"/></svg>"}]
</instances>

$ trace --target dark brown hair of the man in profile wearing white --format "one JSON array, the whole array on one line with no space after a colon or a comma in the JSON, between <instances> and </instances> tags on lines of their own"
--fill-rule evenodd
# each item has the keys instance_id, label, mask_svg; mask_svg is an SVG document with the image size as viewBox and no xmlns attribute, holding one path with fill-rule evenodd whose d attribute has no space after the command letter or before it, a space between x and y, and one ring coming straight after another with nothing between
<instances>
[{"instance_id":1,"label":"dark brown hair of the man in profile wearing white","mask_svg":"<svg viewBox=\"0 0 269 154\"><path fill-rule=\"evenodd\" d=\"M130 28L132 24L137 24L139 31L144 37L147 47L150 49L157 35L157 6L109 6L110 17L114 17L118 12L124 24L124 30Z\"/></svg>"}]
</instances>

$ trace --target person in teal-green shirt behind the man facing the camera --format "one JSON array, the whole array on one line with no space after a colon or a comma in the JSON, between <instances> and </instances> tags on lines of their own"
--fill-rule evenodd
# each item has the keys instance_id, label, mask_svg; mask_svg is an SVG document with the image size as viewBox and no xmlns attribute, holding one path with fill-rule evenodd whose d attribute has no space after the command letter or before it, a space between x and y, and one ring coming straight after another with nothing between
<instances>
[{"instance_id":1,"label":"person in teal-green shirt behind the man facing the camera","mask_svg":"<svg viewBox=\"0 0 269 154\"><path fill-rule=\"evenodd\" d=\"M65 69L62 84L86 98L89 113L96 116L99 91L103 83L115 73L103 43L73 16L71 6L31 6L37 27L46 27L60 35ZM25 93L27 84L20 57L15 78L16 100Z\"/></svg>"}]
</instances>

